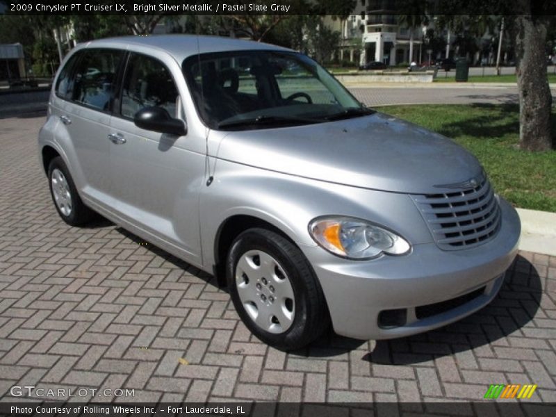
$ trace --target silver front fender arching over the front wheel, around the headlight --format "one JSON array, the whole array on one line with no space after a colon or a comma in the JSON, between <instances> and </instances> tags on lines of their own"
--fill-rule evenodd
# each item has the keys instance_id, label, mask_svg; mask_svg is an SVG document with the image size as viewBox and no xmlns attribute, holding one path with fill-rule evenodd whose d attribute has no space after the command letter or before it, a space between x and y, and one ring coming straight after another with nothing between
<instances>
[{"instance_id":1,"label":"silver front fender arching over the front wheel, around the headlight","mask_svg":"<svg viewBox=\"0 0 556 417\"><path fill-rule=\"evenodd\" d=\"M321 215L350 215L398 231L413 245L432 236L409 195L343 186L216 161L218 169L199 200L205 265L215 263L220 226L234 215L250 215L272 224L302 249L316 246L309 222Z\"/></svg>"}]
</instances>

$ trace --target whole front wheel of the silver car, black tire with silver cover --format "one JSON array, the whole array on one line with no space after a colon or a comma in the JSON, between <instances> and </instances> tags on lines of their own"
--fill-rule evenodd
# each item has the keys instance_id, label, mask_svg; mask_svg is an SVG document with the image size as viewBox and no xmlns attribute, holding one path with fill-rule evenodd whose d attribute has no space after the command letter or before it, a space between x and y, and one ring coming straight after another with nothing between
<instances>
[{"instance_id":1,"label":"whole front wheel of the silver car, black tire with silver cover","mask_svg":"<svg viewBox=\"0 0 556 417\"><path fill-rule=\"evenodd\" d=\"M297 350L329 327L322 288L299 248L267 229L248 229L231 245L226 276L236 311L261 341Z\"/></svg>"}]
</instances>

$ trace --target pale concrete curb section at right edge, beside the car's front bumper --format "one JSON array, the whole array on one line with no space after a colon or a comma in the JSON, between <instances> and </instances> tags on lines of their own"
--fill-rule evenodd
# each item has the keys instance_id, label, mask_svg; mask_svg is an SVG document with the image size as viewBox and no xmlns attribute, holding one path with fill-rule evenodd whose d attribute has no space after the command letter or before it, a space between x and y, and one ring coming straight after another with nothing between
<instances>
[{"instance_id":1,"label":"pale concrete curb section at right edge, beside the car's front bumper","mask_svg":"<svg viewBox=\"0 0 556 417\"><path fill-rule=\"evenodd\" d=\"M519 250L556 256L556 213L516 208L521 220Z\"/></svg>"}]
</instances>

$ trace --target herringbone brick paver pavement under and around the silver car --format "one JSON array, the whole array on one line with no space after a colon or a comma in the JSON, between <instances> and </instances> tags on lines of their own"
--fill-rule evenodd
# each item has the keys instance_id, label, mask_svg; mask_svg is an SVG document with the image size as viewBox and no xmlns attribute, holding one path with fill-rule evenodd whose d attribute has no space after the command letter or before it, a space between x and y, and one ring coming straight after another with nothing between
<instances>
[{"instance_id":1,"label":"herringbone brick paver pavement under and around the silver car","mask_svg":"<svg viewBox=\"0 0 556 417\"><path fill-rule=\"evenodd\" d=\"M43 121L0 120L4 400L34 385L134 389L137 401L400 401L410 411L512 383L538 384L532 401L556 401L556 258L521 253L490 306L435 332L381 342L327 334L285 354L250 335L213 277L112 224L63 223L38 163Z\"/></svg>"}]
</instances>

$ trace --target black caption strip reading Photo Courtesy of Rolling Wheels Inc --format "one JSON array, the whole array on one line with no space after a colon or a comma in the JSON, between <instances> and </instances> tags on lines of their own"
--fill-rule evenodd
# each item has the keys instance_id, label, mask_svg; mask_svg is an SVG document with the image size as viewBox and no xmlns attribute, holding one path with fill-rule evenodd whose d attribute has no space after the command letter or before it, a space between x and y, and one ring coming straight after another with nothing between
<instances>
[{"instance_id":1,"label":"black caption strip reading Photo Courtesy of Rolling Wheels Inc","mask_svg":"<svg viewBox=\"0 0 556 417\"><path fill-rule=\"evenodd\" d=\"M6 400L6 399L4 399ZM489 404L490 403L490 404ZM369 416L487 416L494 409L500 416L553 417L556 404L536 402L227 402L147 403L101 402L0 402L0 416L33 417L369 417Z\"/></svg>"}]
</instances>

